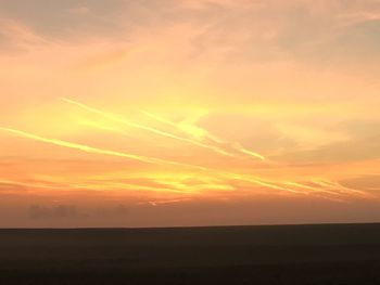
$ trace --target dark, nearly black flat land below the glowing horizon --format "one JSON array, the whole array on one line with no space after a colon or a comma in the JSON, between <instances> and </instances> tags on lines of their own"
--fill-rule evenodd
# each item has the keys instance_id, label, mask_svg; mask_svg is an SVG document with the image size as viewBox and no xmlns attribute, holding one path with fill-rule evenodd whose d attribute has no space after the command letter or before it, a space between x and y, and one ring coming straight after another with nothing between
<instances>
[{"instance_id":1,"label":"dark, nearly black flat land below the glowing horizon","mask_svg":"<svg viewBox=\"0 0 380 285\"><path fill-rule=\"evenodd\" d=\"M380 284L380 224L0 230L0 284Z\"/></svg>"}]
</instances>

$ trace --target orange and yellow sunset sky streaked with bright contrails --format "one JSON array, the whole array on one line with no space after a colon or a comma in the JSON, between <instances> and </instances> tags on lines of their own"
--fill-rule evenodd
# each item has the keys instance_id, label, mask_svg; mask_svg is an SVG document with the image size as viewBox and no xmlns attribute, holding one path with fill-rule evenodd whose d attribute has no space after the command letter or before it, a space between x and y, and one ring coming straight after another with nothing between
<instances>
[{"instance_id":1,"label":"orange and yellow sunset sky streaked with bright contrails","mask_svg":"<svg viewBox=\"0 0 380 285\"><path fill-rule=\"evenodd\" d=\"M380 222L379 0L0 0L0 228Z\"/></svg>"}]
</instances>

